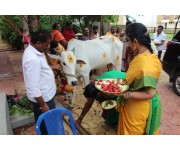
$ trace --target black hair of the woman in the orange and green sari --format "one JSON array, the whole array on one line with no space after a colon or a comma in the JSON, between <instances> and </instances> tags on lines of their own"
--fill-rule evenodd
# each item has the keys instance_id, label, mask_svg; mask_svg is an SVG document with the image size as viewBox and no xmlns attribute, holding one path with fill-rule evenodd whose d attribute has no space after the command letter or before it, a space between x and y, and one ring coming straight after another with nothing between
<instances>
[{"instance_id":1,"label":"black hair of the woman in the orange and green sari","mask_svg":"<svg viewBox=\"0 0 180 150\"><path fill-rule=\"evenodd\" d=\"M151 48L151 38L147 32L147 28L142 23L132 23L128 25L125 32L131 41L136 39L141 45L146 46L151 53L153 53Z\"/></svg>"}]
</instances>

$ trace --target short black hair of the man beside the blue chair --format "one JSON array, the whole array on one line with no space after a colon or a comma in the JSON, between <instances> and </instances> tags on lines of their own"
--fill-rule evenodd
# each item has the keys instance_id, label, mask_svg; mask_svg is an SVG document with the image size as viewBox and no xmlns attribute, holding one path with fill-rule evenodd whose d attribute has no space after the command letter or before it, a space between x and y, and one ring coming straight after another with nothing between
<instances>
[{"instance_id":1,"label":"short black hair of the man beside the blue chair","mask_svg":"<svg viewBox=\"0 0 180 150\"><path fill-rule=\"evenodd\" d=\"M37 41L45 43L47 39L51 39L51 34L47 30L40 29L36 32L33 32L31 35L31 42L34 44Z\"/></svg>"}]
</instances>

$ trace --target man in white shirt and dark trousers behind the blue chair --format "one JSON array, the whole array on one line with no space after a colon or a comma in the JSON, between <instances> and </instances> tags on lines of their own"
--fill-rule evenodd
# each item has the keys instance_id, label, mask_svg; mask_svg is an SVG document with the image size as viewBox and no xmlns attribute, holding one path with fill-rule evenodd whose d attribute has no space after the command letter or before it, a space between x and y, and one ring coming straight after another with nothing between
<instances>
[{"instance_id":1,"label":"man in white shirt and dark trousers behind the blue chair","mask_svg":"<svg viewBox=\"0 0 180 150\"><path fill-rule=\"evenodd\" d=\"M26 92L33 104L35 121L43 112L55 108L54 73L44 55L50 41L51 34L46 30L34 32L22 59ZM42 134L47 134L46 128L42 127L41 131Z\"/></svg>"}]
</instances>

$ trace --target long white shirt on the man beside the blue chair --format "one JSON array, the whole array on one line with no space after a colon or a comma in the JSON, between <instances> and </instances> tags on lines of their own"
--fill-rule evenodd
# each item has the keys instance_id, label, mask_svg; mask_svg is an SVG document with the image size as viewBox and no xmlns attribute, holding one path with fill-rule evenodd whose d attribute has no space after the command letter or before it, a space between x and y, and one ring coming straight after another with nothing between
<instances>
[{"instance_id":1,"label":"long white shirt on the man beside the blue chair","mask_svg":"<svg viewBox=\"0 0 180 150\"><path fill-rule=\"evenodd\" d=\"M56 93L56 84L44 53L29 45L24 51L22 66L28 98L33 102L37 102L35 97L39 96L45 102L51 100Z\"/></svg>"}]
</instances>

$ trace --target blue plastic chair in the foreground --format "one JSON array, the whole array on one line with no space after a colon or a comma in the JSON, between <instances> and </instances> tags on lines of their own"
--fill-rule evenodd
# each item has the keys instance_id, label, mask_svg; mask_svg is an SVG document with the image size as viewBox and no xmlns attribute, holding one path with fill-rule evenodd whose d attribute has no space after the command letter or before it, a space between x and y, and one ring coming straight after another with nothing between
<instances>
[{"instance_id":1,"label":"blue plastic chair in the foreground","mask_svg":"<svg viewBox=\"0 0 180 150\"><path fill-rule=\"evenodd\" d=\"M41 135L40 125L44 121L48 135L65 135L63 114L68 115L73 135L77 135L72 112L66 108L55 108L41 114L36 122L36 132Z\"/></svg>"}]
</instances>

